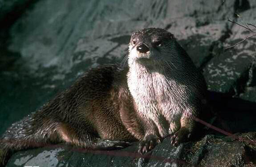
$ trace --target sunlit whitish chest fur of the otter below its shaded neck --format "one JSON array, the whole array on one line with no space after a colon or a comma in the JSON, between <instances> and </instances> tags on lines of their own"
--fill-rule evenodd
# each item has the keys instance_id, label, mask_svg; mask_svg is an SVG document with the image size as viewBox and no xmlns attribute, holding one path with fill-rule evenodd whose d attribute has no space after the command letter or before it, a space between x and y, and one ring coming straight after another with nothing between
<instances>
[{"instance_id":1,"label":"sunlit whitish chest fur of the otter below its shaded neck","mask_svg":"<svg viewBox=\"0 0 256 167\"><path fill-rule=\"evenodd\" d=\"M164 73L150 72L137 64L128 74L128 87L140 115L152 120L162 137L179 129L185 110L185 85L176 83Z\"/></svg>"}]
</instances>

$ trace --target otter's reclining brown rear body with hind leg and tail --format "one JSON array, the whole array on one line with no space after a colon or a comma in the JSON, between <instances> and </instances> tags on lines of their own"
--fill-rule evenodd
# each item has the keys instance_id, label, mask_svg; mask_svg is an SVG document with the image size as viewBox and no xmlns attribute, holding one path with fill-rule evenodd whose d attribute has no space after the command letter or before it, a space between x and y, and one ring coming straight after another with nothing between
<instances>
[{"instance_id":1,"label":"otter's reclining brown rear body with hind leg and tail","mask_svg":"<svg viewBox=\"0 0 256 167\"><path fill-rule=\"evenodd\" d=\"M66 142L105 149L98 144L102 139L129 142L142 139L133 102L120 103L122 99L132 100L127 71L128 68L118 65L90 69L39 111L13 123L0 140L0 148L5 150L4 161L13 151L43 147L47 143Z\"/></svg>"}]
</instances>

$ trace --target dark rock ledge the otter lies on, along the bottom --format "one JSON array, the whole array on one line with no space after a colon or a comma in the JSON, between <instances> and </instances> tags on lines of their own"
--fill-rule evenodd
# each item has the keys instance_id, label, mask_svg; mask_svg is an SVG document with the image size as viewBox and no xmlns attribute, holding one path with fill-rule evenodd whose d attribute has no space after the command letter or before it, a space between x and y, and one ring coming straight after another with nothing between
<instances>
[{"instance_id":1,"label":"dark rock ledge the otter lies on, along the bottom","mask_svg":"<svg viewBox=\"0 0 256 167\"><path fill-rule=\"evenodd\" d=\"M164 139L146 155L137 153L138 143L118 151L95 151L65 145L52 145L12 156L6 167L19 166L92 166L92 167L243 167L256 163L256 146L252 142L256 133L244 133L232 137L206 135L202 140L171 146ZM250 139L250 140L248 140Z\"/></svg>"}]
</instances>

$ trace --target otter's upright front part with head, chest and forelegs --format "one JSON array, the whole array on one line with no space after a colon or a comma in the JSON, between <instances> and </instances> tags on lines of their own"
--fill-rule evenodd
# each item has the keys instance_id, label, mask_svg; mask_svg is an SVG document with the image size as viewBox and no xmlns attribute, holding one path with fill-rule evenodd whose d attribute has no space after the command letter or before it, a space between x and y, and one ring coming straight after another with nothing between
<instances>
[{"instance_id":1,"label":"otter's upright front part with head, chest and forelegs","mask_svg":"<svg viewBox=\"0 0 256 167\"><path fill-rule=\"evenodd\" d=\"M203 110L206 84L170 32L143 29L131 39L128 87L143 123L145 135L139 148L143 154L168 135L175 145L191 135L194 117ZM141 44L149 50L138 52Z\"/></svg>"}]
</instances>

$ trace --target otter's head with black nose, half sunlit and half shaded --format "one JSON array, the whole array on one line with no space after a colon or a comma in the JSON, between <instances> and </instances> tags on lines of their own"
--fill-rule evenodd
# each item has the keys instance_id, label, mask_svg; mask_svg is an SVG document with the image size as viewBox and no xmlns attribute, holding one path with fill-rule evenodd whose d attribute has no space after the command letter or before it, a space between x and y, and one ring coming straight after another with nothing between
<instances>
[{"instance_id":1,"label":"otter's head with black nose, half sunlit and half shaded","mask_svg":"<svg viewBox=\"0 0 256 167\"><path fill-rule=\"evenodd\" d=\"M161 28L145 28L134 32L129 44L129 61L146 67L156 67L171 60L173 34Z\"/></svg>"}]
</instances>

